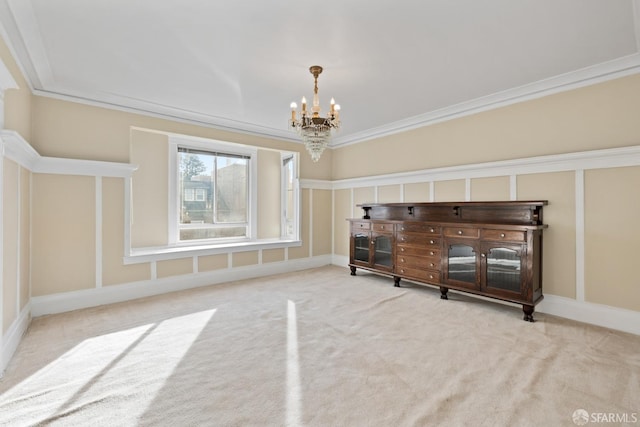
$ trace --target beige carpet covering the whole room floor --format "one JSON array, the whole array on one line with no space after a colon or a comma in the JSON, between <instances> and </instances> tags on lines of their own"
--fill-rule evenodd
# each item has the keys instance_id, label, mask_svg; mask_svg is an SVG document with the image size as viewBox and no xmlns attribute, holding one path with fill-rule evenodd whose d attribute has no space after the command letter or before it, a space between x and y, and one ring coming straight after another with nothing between
<instances>
[{"instance_id":1,"label":"beige carpet covering the whole room floor","mask_svg":"<svg viewBox=\"0 0 640 427\"><path fill-rule=\"evenodd\" d=\"M324 267L34 319L0 381L0 425L640 418L639 336L403 284Z\"/></svg>"}]
</instances>

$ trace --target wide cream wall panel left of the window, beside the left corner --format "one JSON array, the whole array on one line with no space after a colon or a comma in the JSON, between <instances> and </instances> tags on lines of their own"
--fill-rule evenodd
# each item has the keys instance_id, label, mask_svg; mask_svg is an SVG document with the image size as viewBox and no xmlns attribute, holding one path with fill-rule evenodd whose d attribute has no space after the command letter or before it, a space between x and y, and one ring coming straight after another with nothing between
<instances>
[{"instance_id":1,"label":"wide cream wall panel left of the window, beside the left corner","mask_svg":"<svg viewBox=\"0 0 640 427\"><path fill-rule=\"evenodd\" d=\"M96 179L33 175L33 296L95 287Z\"/></svg>"}]
</instances>

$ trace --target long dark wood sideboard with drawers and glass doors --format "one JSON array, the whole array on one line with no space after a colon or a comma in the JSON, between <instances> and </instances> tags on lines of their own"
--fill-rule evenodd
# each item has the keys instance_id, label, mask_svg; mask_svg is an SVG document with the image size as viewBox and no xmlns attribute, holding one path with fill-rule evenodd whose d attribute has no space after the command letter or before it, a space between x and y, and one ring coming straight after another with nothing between
<instances>
[{"instance_id":1,"label":"long dark wood sideboard with drawers and glass doors","mask_svg":"<svg viewBox=\"0 0 640 427\"><path fill-rule=\"evenodd\" d=\"M349 219L349 267L522 304L542 298L543 201L365 203Z\"/></svg>"}]
</instances>

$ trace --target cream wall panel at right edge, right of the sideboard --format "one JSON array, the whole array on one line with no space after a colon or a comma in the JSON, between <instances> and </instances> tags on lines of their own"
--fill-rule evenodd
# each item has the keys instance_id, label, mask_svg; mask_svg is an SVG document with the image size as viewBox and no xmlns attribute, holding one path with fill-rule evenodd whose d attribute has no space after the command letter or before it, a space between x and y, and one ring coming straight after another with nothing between
<instances>
[{"instance_id":1,"label":"cream wall panel at right edge, right of the sideboard","mask_svg":"<svg viewBox=\"0 0 640 427\"><path fill-rule=\"evenodd\" d=\"M640 311L640 167L585 171L585 299Z\"/></svg>"}]
</instances>

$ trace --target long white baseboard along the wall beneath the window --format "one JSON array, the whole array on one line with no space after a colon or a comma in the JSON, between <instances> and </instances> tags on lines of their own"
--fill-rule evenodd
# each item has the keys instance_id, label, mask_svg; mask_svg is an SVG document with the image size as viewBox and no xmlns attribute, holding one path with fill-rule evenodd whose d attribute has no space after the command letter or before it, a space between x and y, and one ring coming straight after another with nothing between
<instances>
[{"instance_id":1,"label":"long white baseboard along the wall beneath the window","mask_svg":"<svg viewBox=\"0 0 640 427\"><path fill-rule=\"evenodd\" d=\"M306 270L331 264L331 255L301 258L290 261L265 263L247 267L214 270L182 276L145 280L122 285L103 286L82 291L65 292L31 298L31 314L63 313L81 308L129 301L167 292L181 291L202 286L216 285L234 280L253 279L272 274Z\"/></svg>"}]
</instances>

